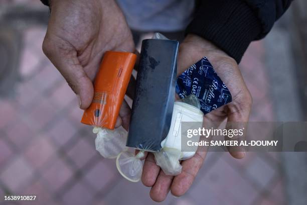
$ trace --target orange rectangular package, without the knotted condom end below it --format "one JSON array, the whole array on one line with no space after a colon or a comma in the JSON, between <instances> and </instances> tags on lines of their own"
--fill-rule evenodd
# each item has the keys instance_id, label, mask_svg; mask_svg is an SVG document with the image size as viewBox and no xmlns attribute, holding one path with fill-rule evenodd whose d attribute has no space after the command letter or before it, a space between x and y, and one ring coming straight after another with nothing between
<instances>
[{"instance_id":1,"label":"orange rectangular package, without the knotted condom end below it","mask_svg":"<svg viewBox=\"0 0 307 205\"><path fill-rule=\"evenodd\" d=\"M114 129L135 64L136 55L105 52L94 82L94 97L81 123Z\"/></svg>"}]
</instances>

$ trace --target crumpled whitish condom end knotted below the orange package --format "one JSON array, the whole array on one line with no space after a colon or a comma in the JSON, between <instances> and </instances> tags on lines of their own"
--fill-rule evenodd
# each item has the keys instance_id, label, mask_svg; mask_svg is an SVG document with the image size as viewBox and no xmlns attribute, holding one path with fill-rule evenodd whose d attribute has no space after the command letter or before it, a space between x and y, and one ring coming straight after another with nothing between
<instances>
[{"instance_id":1,"label":"crumpled whitish condom end knotted below the orange package","mask_svg":"<svg viewBox=\"0 0 307 205\"><path fill-rule=\"evenodd\" d=\"M94 127L93 133L97 134L95 139L96 150L104 158L116 158L117 155L127 149L127 131L123 127L109 130L100 127Z\"/></svg>"}]
</instances>

